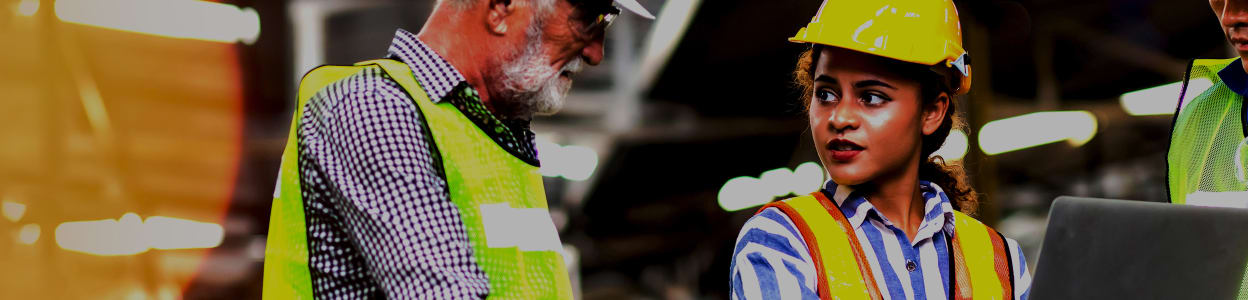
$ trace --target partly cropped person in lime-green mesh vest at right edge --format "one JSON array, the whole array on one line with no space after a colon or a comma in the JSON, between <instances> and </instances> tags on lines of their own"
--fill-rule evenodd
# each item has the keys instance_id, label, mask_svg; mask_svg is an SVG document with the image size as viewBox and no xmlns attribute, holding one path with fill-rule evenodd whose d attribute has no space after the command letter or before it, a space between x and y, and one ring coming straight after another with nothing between
<instances>
[{"instance_id":1,"label":"partly cropped person in lime-green mesh vest at right edge","mask_svg":"<svg viewBox=\"0 0 1248 300\"><path fill-rule=\"evenodd\" d=\"M1248 208L1248 1L1209 6L1239 58L1188 65L1166 152L1167 189L1176 204Z\"/></svg>"}]
</instances>

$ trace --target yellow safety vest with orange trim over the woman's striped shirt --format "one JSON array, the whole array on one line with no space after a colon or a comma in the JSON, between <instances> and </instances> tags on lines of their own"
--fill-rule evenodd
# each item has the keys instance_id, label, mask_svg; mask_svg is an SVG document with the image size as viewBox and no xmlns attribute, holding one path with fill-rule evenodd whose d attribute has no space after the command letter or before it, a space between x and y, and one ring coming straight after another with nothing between
<instances>
[{"instance_id":1,"label":"yellow safety vest with orange trim over the woman's striped shirt","mask_svg":"<svg viewBox=\"0 0 1248 300\"><path fill-rule=\"evenodd\" d=\"M770 202L792 220L806 241L821 299L882 299L854 226L821 191ZM1012 260L1005 236L953 212L950 264L953 299L1013 299ZM854 258L854 259L850 259Z\"/></svg>"}]
</instances>

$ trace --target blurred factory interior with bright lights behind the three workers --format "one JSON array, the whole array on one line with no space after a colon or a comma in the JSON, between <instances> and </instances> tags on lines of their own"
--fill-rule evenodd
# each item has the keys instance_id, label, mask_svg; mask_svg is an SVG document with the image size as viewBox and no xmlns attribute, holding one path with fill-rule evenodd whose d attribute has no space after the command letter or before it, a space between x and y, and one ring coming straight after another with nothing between
<instances>
[{"instance_id":1,"label":"blurred factory interior with bright lights behind the three workers","mask_svg":"<svg viewBox=\"0 0 1248 300\"><path fill-rule=\"evenodd\" d=\"M820 0L641 0L534 131L583 299L726 299L754 208L819 186L786 42ZM0 299L257 299L296 82L432 0L0 0ZM1166 201L1203 1L958 1L970 130L943 156L1031 260L1050 201ZM956 136L962 136L957 139ZM810 164L815 162L815 164Z\"/></svg>"}]
</instances>

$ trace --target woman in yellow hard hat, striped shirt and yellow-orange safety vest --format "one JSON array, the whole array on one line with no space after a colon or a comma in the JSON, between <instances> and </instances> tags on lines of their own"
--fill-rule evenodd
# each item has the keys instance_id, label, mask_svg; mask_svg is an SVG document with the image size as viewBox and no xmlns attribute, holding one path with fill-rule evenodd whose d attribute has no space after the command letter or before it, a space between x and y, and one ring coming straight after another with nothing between
<instances>
[{"instance_id":1,"label":"woman in yellow hard hat, striped shirt and yellow-orange safety vest","mask_svg":"<svg viewBox=\"0 0 1248 300\"><path fill-rule=\"evenodd\" d=\"M1018 242L971 218L962 169L932 158L971 85L951 0L825 0L789 39L826 185L760 209L733 299L1027 299Z\"/></svg>"}]
</instances>

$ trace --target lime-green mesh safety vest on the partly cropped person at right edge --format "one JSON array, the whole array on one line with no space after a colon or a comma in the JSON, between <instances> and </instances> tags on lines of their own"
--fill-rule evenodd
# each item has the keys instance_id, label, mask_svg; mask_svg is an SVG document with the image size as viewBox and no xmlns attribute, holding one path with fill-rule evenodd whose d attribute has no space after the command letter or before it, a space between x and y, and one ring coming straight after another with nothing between
<instances>
[{"instance_id":1,"label":"lime-green mesh safety vest on the partly cropped person at right edge","mask_svg":"<svg viewBox=\"0 0 1248 300\"><path fill-rule=\"evenodd\" d=\"M1171 202L1219 198L1243 201L1248 195L1243 194L1248 190L1243 96L1218 76L1234 61L1194 60L1188 68L1166 154Z\"/></svg>"}]
</instances>

